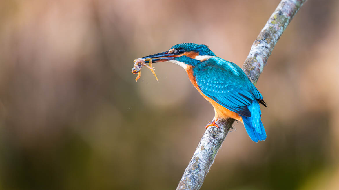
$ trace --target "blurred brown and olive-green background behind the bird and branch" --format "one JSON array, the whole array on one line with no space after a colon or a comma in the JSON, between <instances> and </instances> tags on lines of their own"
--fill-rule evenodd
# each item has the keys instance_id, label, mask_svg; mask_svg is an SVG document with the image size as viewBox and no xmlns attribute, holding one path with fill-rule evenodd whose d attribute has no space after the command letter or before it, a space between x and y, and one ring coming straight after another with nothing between
<instances>
[{"instance_id":1,"label":"blurred brown and olive-green background behind the bird and branch","mask_svg":"<svg viewBox=\"0 0 339 190\"><path fill-rule=\"evenodd\" d=\"M279 0L1 0L0 189L175 189L214 117L185 71L133 60L206 44L242 66ZM201 189L339 189L339 1L309 0Z\"/></svg>"}]
</instances>

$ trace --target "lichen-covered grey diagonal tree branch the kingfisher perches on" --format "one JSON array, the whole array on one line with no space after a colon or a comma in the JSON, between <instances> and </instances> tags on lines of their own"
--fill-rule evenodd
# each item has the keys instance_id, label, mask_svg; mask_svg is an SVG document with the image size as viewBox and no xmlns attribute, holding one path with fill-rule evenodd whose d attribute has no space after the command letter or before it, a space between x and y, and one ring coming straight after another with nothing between
<instances>
[{"instance_id":1,"label":"lichen-covered grey diagonal tree branch the kingfisher perches on","mask_svg":"<svg viewBox=\"0 0 339 190\"><path fill-rule=\"evenodd\" d=\"M306 0L282 0L254 41L242 67L253 84L257 83L274 46L304 2ZM217 125L221 129L208 127L182 175L177 190L200 189L234 121L232 118L219 119Z\"/></svg>"}]
</instances>

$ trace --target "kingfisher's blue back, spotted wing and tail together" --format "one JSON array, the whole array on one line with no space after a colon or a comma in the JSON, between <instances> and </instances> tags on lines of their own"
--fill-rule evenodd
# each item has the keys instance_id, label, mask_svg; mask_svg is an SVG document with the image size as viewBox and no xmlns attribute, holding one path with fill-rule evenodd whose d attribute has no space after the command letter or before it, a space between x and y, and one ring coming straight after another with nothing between
<instances>
[{"instance_id":1,"label":"kingfisher's blue back, spotted wing and tail together","mask_svg":"<svg viewBox=\"0 0 339 190\"><path fill-rule=\"evenodd\" d=\"M193 67L193 75L203 94L242 116L246 132L254 142L266 139L258 103L262 95L240 67L213 57Z\"/></svg>"}]
</instances>

